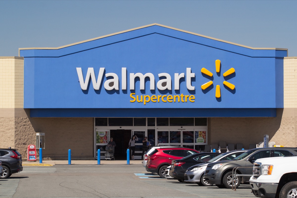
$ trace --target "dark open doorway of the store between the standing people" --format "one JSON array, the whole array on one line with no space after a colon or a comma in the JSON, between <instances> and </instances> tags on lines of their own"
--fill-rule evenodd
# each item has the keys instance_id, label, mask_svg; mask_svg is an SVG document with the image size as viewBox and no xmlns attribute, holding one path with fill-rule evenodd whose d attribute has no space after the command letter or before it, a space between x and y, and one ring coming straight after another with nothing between
<instances>
[{"instance_id":1,"label":"dark open doorway of the store between the standing people","mask_svg":"<svg viewBox=\"0 0 297 198\"><path fill-rule=\"evenodd\" d=\"M116 147L114 150L115 159L127 159L126 151L128 148L129 140L132 137L132 131L125 129L110 130L110 137L112 137L113 141L116 142Z\"/></svg>"}]
</instances>

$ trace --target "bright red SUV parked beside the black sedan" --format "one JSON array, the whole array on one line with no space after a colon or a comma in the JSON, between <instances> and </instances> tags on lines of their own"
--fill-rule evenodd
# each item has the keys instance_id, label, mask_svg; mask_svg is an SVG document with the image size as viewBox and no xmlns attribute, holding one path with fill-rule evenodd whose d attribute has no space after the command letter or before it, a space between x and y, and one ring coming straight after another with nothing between
<instances>
[{"instance_id":1,"label":"bright red SUV parked beside the black sedan","mask_svg":"<svg viewBox=\"0 0 297 198\"><path fill-rule=\"evenodd\" d=\"M160 177L165 178L165 170L173 159L181 159L194 153L199 152L185 147L157 148L149 154L146 171L158 173Z\"/></svg>"}]
</instances>

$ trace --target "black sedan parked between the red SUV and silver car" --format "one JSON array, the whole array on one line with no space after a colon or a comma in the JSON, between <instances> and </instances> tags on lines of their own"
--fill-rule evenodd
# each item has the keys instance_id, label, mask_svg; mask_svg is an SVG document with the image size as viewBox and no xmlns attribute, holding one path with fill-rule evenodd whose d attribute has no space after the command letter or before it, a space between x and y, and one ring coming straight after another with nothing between
<instances>
[{"instance_id":1,"label":"black sedan parked between the red SUV and silver car","mask_svg":"<svg viewBox=\"0 0 297 198\"><path fill-rule=\"evenodd\" d=\"M196 164L205 163L222 153L195 153L181 159L172 160L169 175L184 182L184 173L187 168Z\"/></svg>"}]
</instances>

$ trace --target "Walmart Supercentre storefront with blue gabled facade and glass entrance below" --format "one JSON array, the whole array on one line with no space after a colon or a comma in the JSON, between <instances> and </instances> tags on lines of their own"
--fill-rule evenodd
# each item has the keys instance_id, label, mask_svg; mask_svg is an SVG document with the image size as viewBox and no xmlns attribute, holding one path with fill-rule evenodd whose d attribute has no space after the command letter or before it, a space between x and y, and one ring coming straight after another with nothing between
<instances>
[{"instance_id":1,"label":"Walmart Supercentre storefront with blue gabled facade and glass entrance below","mask_svg":"<svg viewBox=\"0 0 297 198\"><path fill-rule=\"evenodd\" d=\"M265 134L286 144L279 129L287 49L151 24L19 52L28 137L45 133L45 157L67 157L72 149L74 158L96 159L110 137L115 155L124 157L132 134L138 158L144 136L153 145L202 151L219 141L248 148Z\"/></svg>"}]
</instances>

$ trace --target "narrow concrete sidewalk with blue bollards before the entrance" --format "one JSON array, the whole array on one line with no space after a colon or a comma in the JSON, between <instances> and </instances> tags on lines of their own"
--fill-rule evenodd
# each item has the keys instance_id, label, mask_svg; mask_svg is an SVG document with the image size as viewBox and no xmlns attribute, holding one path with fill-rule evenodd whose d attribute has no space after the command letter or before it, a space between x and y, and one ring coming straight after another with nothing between
<instances>
[{"instance_id":1,"label":"narrow concrete sidewalk with blue bollards before the entrance","mask_svg":"<svg viewBox=\"0 0 297 198\"><path fill-rule=\"evenodd\" d=\"M130 160L129 164L142 164L143 160ZM37 161L23 160L23 166L53 166L56 164L68 164L68 160L42 160L42 163ZM71 164L98 164L97 160L71 160ZM105 160L101 159L100 164L127 164L127 160Z\"/></svg>"}]
</instances>

